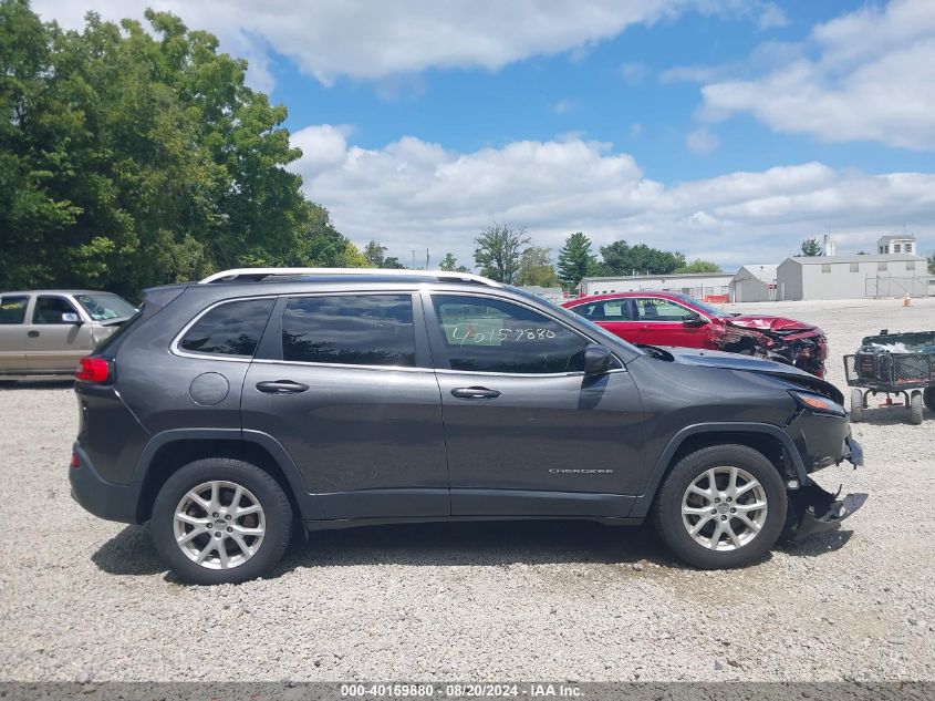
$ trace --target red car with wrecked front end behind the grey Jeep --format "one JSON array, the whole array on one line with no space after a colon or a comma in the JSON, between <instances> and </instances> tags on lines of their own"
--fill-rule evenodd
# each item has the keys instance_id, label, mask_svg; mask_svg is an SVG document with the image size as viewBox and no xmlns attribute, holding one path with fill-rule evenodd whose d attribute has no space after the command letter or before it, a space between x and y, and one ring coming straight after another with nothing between
<instances>
[{"instance_id":1,"label":"red car with wrecked front end behind the grey Jeep","mask_svg":"<svg viewBox=\"0 0 935 701\"><path fill-rule=\"evenodd\" d=\"M760 355L824 377L828 340L811 323L726 313L688 295L652 290L579 297L562 306L631 343Z\"/></svg>"}]
</instances>

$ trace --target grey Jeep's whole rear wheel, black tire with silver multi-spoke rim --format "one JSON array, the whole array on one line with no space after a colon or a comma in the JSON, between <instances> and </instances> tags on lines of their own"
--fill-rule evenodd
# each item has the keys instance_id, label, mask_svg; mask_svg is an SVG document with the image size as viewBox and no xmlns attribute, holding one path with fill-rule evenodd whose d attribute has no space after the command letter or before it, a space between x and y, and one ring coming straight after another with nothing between
<instances>
[{"instance_id":1,"label":"grey Jeep's whole rear wheel, black tire with silver multi-spoke rim","mask_svg":"<svg viewBox=\"0 0 935 701\"><path fill-rule=\"evenodd\" d=\"M267 574L285 551L292 508L256 465L209 458L189 463L153 504L153 540L184 580L239 584Z\"/></svg>"}]
</instances>

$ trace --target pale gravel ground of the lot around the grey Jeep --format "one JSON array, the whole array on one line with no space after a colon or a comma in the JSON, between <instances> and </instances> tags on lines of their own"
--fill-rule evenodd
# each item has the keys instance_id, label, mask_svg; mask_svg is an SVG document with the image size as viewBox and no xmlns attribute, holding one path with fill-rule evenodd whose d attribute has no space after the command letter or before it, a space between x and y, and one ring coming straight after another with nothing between
<instances>
[{"instance_id":1,"label":"pale gravel ground of the lot around the grey Jeep","mask_svg":"<svg viewBox=\"0 0 935 701\"><path fill-rule=\"evenodd\" d=\"M935 299L747 305L840 355L935 327ZM454 524L315 534L274 577L188 587L145 527L69 496L65 384L0 390L0 679L935 680L935 416L855 426L868 492L845 530L739 571L675 563L646 527ZM232 635L231 635L232 633Z\"/></svg>"}]
</instances>

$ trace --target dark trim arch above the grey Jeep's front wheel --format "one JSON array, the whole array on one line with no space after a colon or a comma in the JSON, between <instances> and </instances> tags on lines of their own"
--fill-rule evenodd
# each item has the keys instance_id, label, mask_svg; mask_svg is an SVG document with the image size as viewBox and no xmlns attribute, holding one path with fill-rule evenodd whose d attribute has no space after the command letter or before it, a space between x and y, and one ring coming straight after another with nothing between
<instances>
[{"instance_id":1,"label":"dark trim arch above the grey Jeep's front wheel","mask_svg":"<svg viewBox=\"0 0 935 701\"><path fill-rule=\"evenodd\" d=\"M711 445L736 444L766 456L782 476L810 483L804 463L792 437L779 426L766 423L707 423L686 426L676 433L656 461L643 494L636 497L631 517L644 518L656 498L659 486L672 468L686 455Z\"/></svg>"}]
</instances>

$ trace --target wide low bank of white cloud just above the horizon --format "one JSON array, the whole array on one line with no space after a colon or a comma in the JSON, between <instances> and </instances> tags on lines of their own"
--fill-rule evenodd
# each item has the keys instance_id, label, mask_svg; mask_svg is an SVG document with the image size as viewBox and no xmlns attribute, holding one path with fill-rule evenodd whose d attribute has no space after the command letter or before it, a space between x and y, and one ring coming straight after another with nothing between
<instances>
[{"instance_id":1,"label":"wide low bank of white cloud just above the horizon","mask_svg":"<svg viewBox=\"0 0 935 701\"><path fill-rule=\"evenodd\" d=\"M474 238L495 219L528 226L554 250L582 230L595 245L626 238L726 266L778 262L829 228L842 252L904 221L935 246L931 174L807 163L667 187L630 155L575 135L458 153L414 137L361 148L345 134L329 125L297 134L297 143L325 146L326 155L297 165L307 193L357 244L376 238L404 260L428 246L436 264L453 251L471 265Z\"/></svg>"}]
</instances>

